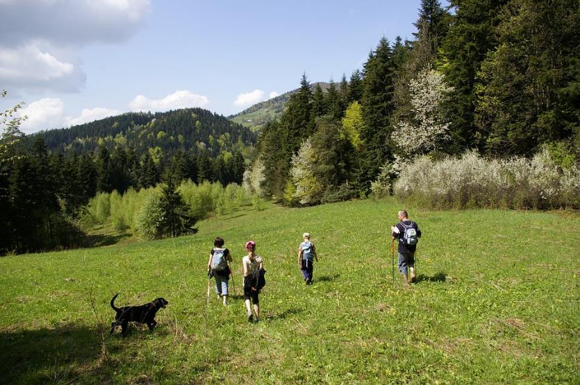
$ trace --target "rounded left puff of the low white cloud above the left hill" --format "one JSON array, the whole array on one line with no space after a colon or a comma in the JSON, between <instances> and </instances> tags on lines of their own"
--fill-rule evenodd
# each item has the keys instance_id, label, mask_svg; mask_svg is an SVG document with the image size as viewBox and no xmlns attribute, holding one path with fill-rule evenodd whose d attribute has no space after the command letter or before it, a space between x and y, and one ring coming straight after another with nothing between
<instances>
[{"instance_id":1,"label":"rounded left puff of the low white cloud above the left hill","mask_svg":"<svg viewBox=\"0 0 580 385\"><path fill-rule=\"evenodd\" d=\"M20 116L28 119L22 122L20 129L26 134L40 130L63 127L65 103L60 99L44 98L33 101L28 107L19 110Z\"/></svg>"}]
</instances>

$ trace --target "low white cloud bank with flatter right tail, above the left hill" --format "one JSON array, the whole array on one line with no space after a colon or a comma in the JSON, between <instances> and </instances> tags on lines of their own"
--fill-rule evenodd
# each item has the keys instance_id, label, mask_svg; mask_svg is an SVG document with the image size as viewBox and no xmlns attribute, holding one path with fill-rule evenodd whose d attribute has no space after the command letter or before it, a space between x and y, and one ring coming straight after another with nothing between
<instances>
[{"instance_id":1,"label":"low white cloud bank with flatter right tail, above the left hill","mask_svg":"<svg viewBox=\"0 0 580 385\"><path fill-rule=\"evenodd\" d=\"M18 113L21 117L24 115L28 117L20 126L22 132L26 134L40 130L76 126L77 124L122 114L121 111L98 107L92 109L84 108L78 117L65 117L65 103L58 98L44 98L33 101L30 105L19 110Z\"/></svg>"}]
</instances>

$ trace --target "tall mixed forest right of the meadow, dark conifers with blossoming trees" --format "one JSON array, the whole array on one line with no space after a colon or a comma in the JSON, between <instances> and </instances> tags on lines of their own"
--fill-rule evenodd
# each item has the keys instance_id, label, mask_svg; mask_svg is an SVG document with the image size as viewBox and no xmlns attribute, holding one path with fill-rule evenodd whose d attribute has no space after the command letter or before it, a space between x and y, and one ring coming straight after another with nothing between
<instances>
[{"instance_id":1,"label":"tall mixed forest right of the meadow, dark conifers with blossoming trees","mask_svg":"<svg viewBox=\"0 0 580 385\"><path fill-rule=\"evenodd\" d=\"M363 70L326 92L306 74L258 137L248 178L312 205L370 194L420 155L474 150L580 156L580 12L572 0L422 0L413 40L383 37Z\"/></svg>"}]
</instances>

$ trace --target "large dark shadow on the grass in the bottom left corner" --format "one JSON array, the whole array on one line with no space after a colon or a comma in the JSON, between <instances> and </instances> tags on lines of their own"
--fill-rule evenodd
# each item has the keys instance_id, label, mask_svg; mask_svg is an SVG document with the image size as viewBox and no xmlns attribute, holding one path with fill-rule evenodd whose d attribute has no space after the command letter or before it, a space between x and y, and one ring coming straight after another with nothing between
<instances>
[{"instance_id":1,"label":"large dark shadow on the grass in the bottom left corner","mask_svg":"<svg viewBox=\"0 0 580 385\"><path fill-rule=\"evenodd\" d=\"M110 382L113 367L101 360L102 347L98 330L76 325L0 332L0 362L5 368L0 383Z\"/></svg>"}]
</instances>

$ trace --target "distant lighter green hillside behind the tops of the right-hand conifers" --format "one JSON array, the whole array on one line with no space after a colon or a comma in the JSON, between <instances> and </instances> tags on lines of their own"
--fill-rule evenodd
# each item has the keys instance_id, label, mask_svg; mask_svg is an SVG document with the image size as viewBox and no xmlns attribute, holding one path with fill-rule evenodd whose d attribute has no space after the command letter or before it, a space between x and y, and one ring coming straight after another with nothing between
<instances>
[{"instance_id":1,"label":"distant lighter green hillside behind the tops of the right-hand conifers","mask_svg":"<svg viewBox=\"0 0 580 385\"><path fill-rule=\"evenodd\" d=\"M310 84L312 92L314 92L317 85L320 85L324 91L330 87L330 83L313 83ZM281 94L275 98L261 101L238 114L230 115L228 118L235 123L240 123L247 128L251 128L254 132L257 132L267 121L278 119L284 111L285 105L290 99L290 96L296 94L299 90L299 88L293 89L292 91L285 92L285 94Z\"/></svg>"}]
</instances>

